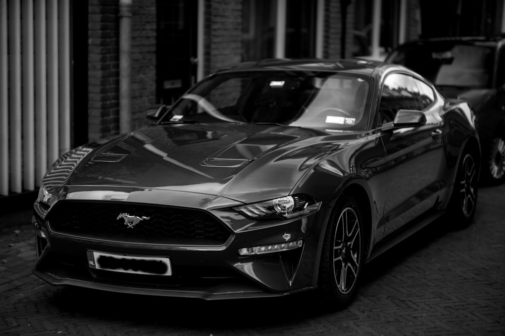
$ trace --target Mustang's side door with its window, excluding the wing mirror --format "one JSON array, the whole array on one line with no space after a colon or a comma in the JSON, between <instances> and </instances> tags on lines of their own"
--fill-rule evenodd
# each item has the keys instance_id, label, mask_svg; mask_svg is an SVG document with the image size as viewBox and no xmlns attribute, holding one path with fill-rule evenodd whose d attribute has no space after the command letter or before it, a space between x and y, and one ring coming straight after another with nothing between
<instances>
[{"instance_id":1,"label":"Mustang's side door with its window, excluding the wing mirror","mask_svg":"<svg viewBox=\"0 0 505 336\"><path fill-rule=\"evenodd\" d=\"M430 111L435 103L431 87L418 81L421 95L416 81L402 73L387 75L376 113L377 132L386 150L388 167L384 237L436 208L439 202L443 162L441 119ZM426 124L394 127L399 109L423 111Z\"/></svg>"}]
</instances>

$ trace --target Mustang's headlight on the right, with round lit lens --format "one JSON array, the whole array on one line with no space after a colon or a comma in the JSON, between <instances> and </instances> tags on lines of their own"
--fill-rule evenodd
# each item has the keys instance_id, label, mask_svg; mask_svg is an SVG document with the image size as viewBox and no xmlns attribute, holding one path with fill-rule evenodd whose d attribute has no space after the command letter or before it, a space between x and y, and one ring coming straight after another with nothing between
<instances>
[{"instance_id":1,"label":"Mustang's headlight on the right, with round lit lens","mask_svg":"<svg viewBox=\"0 0 505 336\"><path fill-rule=\"evenodd\" d=\"M248 204L233 208L240 214L251 218L282 217L293 218L315 213L321 202L308 195L292 195Z\"/></svg>"}]
</instances>

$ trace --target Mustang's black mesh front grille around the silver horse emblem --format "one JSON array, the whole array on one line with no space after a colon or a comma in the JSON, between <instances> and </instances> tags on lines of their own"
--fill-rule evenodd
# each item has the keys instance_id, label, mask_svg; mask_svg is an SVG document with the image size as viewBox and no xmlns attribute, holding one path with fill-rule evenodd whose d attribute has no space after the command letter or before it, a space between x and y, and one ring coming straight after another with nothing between
<instances>
[{"instance_id":1,"label":"Mustang's black mesh front grille around the silver horse emblem","mask_svg":"<svg viewBox=\"0 0 505 336\"><path fill-rule=\"evenodd\" d=\"M128 227L123 213L143 220ZM62 200L47 221L56 233L133 243L222 245L231 235L203 210L114 201Z\"/></svg>"}]
</instances>

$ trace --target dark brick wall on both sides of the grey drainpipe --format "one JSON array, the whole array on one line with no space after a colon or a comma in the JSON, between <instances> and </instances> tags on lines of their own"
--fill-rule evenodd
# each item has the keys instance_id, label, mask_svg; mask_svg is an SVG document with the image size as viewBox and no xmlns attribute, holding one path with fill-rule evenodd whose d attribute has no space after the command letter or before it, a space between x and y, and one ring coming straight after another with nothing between
<instances>
[{"instance_id":1,"label":"dark brick wall on both sides of the grey drainpipe","mask_svg":"<svg viewBox=\"0 0 505 336\"><path fill-rule=\"evenodd\" d=\"M89 0L88 138L119 132L119 2ZM132 129L146 124L145 111L156 102L156 0L132 4Z\"/></svg>"}]
</instances>

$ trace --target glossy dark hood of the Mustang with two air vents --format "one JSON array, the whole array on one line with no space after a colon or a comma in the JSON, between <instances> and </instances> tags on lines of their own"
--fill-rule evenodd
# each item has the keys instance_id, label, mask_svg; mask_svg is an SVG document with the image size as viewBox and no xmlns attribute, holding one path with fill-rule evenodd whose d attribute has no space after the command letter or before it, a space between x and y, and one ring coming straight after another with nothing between
<instances>
[{"instance_id":1,"label":"glossy dark hood of the Mustang with two air vents","mask_svg":"<svg viewBox=\"0 0 505 336\"><path fill-rule=\"evenodd\" d=\"M307 169L360 138L340 133L230 123L149 126L74 150L44 184L56 176L67 186L185 191L247 203L288 194Z\"/></svg>"}]
</instances>

